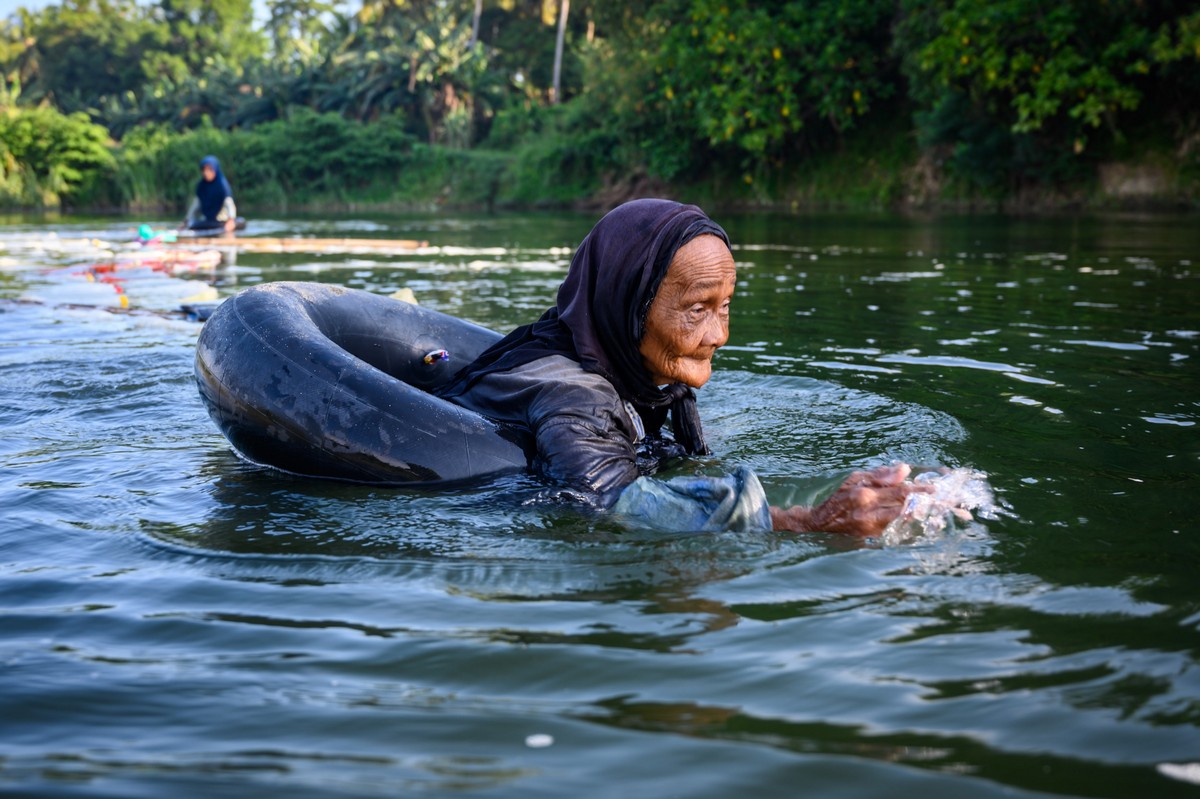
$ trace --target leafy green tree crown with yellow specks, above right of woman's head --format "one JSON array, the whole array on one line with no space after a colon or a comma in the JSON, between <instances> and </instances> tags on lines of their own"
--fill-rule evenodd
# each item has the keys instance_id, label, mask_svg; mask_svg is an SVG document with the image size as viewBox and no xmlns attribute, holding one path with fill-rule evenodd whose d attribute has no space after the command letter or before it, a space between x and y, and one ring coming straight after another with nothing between
<instances>
[{"instance_id":1,"label":"leafy green tree crown with yellow specks, above right of woman's head","mask_svg":"<svg viewBox=\"0 0 1200 799\"><path fill-rule=\"evenodd\" d=\"M806 126L834 133L854 126L894 85L887 61L892 4L882 0L673 0L650 12L641 74L622 108L649 112L678 151L680 139L761 161ZM689 163L655 164L668 176Z\"/></svg>"}]
</instances>

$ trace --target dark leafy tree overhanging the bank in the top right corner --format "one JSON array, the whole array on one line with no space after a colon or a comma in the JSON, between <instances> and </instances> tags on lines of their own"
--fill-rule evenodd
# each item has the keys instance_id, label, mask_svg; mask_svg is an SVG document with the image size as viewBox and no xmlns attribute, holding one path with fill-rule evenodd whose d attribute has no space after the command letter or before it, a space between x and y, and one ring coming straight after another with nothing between
<instances>
[{"instance_id":1,"label":"dark leafy tree overhanging the bank in the top right corner","mask_svg":"<svg viewBox=\"0 0 1200 799\"><path fill-rule=\"evenodd\" d=\"M1156 64L1194 52L1195 14L1181 18L1183 7L905 0L895 47L923 145L992 192L1078 176L1163 80Z\"/></svg>"}]
</instances>

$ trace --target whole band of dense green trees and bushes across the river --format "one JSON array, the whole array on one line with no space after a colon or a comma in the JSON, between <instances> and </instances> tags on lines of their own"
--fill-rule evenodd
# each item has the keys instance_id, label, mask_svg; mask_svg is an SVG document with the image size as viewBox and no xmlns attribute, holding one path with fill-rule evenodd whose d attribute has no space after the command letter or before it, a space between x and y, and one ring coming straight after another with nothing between
<instances>
[{"instance_id":1,"label":"whole band of dense green trees and bushes across the river","mask_svg":"<svg viewBox=\"0 0 1200 799\"><path fill-rule=\"evenodd\" d=\"M1200 198L1186 0L359 2L0 22L0 205L179 206L209 152L244 206Z\"/></svg>"}]
</instances>

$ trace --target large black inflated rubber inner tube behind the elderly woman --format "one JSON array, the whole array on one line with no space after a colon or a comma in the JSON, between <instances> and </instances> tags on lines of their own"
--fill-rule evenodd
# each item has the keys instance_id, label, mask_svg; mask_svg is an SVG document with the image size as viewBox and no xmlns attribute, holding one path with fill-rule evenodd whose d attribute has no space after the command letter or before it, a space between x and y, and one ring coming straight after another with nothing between
<instances>
[{"instance_id":1,"label":"large black inflated rubber inner tube behind the elderly woman","mask_svg":"<svg viewBox=\"0 0 1200 799\"><path fill-rule=\"evenodd\" d=\"M196 380L246 459L358 482L458 482L523 470L521 433L430 391L499 334L323 283L266 283L204 323ZM448 350L449 360L426 355Z\"/></svg>"}]
</instances>

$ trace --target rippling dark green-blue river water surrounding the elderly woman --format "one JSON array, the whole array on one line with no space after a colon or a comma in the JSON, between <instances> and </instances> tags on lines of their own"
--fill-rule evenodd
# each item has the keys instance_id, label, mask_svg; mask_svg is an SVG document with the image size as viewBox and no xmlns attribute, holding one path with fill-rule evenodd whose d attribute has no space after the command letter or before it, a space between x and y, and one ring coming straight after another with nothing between
<instances>
[{"instance_id":1,"label":"rippling dark green-blue river water surrounding the elderly woman","mask_svg":"<svg viewBox=\"0 0 1200 799\"><path fill-rule=\"evenodd\" d=\"M589 215L254 221L428 247L130 271L125 310L90 239L133 221L0 221L0 793L1196 795L1198 220L719 221L718 455L679 471L788 504L907 461L994 512L650 534L527 477L263 470L200 404L180 299L408 288L508 330Z\"/></svg>"}]
</instances>

